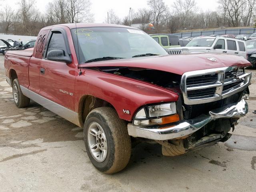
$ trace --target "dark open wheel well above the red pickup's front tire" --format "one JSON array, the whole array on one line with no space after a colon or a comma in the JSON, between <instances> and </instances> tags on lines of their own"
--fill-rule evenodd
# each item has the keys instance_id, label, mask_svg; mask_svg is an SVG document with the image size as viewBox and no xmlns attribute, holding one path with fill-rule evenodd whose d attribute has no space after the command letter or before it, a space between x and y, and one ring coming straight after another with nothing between
<instances>
[{"instance_id":1,"label":"dark open wheel well above the red pickup's front tire","mask_svg":"<svg viewBox=\"0 0 256 192\"><path fill-rule=\"evenodd\" d=\"M87 115L94 109L99 108L99 107L111 107L115 109L112 104L109 102L102 100L100 98L91 96L91 95L85 95L82 96L79 102L79 107L78 107L78 114L79 114L79 121L80 125L83 127L84 126L84 121L87 117Z\"/></svg>"}]
</instances>

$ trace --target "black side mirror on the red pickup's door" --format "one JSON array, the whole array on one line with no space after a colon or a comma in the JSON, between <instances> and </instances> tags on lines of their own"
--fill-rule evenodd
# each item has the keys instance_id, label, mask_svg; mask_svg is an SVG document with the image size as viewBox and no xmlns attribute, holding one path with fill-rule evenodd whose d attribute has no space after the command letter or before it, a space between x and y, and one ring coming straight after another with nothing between
<instances>
[{"instance_id":1,"label":"black side mirror on the red pickup's door","mask_svg":"<svg viewBox=\"0 0 256 192\"><path fill-rule=\"evenodd\" d=\"M72 62L70 55L66 55L65 51L60 49L51 50L50 52L48 52L46 59L51 61L65 62L65 63Z\"/></svg>"}]
</instances>

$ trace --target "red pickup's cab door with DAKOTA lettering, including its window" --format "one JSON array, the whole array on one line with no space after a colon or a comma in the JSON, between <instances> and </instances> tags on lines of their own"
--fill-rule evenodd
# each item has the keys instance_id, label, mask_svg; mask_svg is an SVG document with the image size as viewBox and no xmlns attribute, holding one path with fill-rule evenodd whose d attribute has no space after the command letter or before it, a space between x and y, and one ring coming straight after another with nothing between
<instances>
[{"instance_id":1,"label":"red pickup's cab door with DAKOTA lettering, including its window","mask_svg":"<svg viewBox=\"0 0 256 192\"><path fill-rule=\"evenodd\" d=\"M54 28L50 31L40 65L39 94L54 103L74 110L75 78L78 74L74 59L71 63L66 63L47 58L52 50L62 50L64 55L71 56L67 32L70 32L69 29L64 30L64 28Z\"/></svg>"}]
</instances>

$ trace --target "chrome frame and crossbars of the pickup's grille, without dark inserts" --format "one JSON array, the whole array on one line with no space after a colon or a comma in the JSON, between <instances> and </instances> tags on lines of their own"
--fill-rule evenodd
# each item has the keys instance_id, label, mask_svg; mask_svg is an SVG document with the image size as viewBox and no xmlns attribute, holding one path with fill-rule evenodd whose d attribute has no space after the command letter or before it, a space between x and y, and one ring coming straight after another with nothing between
<instances>
[{"instance_id":1,"label":"chrome frame and crossbars of the pickup's grille, without dark inserts","mask_svg":"<svg viewBox=\"0 0 256 192\"><path fill-rule=\"evenodd\" d=\"M252 78L252 73L240 73L236 76L236 78L227 78L225 80L225 73L230 72L232 70L236 70L238 67L222 67L222 68L214 68L214 69L206 69L206 70L197 70L192 72L186 72L182 75L180 89L182 90L184 103L187 105L194 104L202 104L208 102L214 102L217 100L221 100L228 96L231 96L237 92L242 91L246 86L250 84L250 79ZM190 77L202 76L206 74L218 74L218 80L212 83L202 83L202 84L194 84L186 86L186 80ZM224 85L231 84L237 82L238 80L243 80L240 84L228 89L224 90ZM215 94L211 96L200 96L200 97L188 97L189 90L198 90L205 88L214 88L216 87Z\"/></svg>"}]
</instances>

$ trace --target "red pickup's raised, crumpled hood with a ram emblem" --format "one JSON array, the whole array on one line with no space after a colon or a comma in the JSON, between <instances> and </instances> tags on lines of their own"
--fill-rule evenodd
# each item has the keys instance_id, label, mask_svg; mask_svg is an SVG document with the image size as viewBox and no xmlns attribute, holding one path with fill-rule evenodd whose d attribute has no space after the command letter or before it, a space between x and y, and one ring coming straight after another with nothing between
<instances>
[{"instance_id":1,"label":"red pickup's raised, crumpled hood with a ram emblem","mask_svg":"<svg viewBox=\"0 0 256 192\"><path fill-rule=\"evenodd\" d=\"M207 58L215 58L211 61ZM180 55L162 55L146 56L129 59L118 59L108 61L91 62L81 64L81 67L100 67L100 66L117 66L117 67L137 67L161 70L175 74L184 74L185 72L229 67L229 66L250 66L250 62L242 57L226 54L180 54Z\"/></svg>"}]
</instances>

